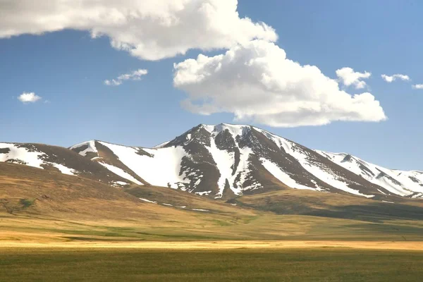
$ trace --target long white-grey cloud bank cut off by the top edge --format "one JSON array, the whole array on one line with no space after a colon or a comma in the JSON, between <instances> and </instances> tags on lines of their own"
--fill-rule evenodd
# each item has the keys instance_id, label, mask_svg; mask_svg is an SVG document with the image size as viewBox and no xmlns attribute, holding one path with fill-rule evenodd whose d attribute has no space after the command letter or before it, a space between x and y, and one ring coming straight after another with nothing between
<instances>
[{"instance_id":1,"label":"long white-grey cloud bank cut off by the top edge","mask_svg":"<svg viewBox=\"0 0 423 282\"><path fill-rule=\"evenodd\" d=\"M237 7L237 0L1 0L0 38L88 30L147 60L189 49L227 49L257 38L277 40L273 28L240 18Z\"/></svg>"}]
</instances>

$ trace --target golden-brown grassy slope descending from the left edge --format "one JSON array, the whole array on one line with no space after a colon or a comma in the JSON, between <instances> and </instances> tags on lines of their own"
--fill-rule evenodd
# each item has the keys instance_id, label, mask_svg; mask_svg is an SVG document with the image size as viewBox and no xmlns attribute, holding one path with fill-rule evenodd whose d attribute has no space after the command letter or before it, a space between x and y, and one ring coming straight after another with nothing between
<instances>
[{"instance_id":1,"label":"golden-brown grassy slope descending from the left edge","mask_svg":"<svg viewBox=\"0 0 423 282\"><path fill-rule=\"evenodd\" d=\"M171 216L173 212L252 215L231 204L180 190L147 185L116 188L58 171L8 163L0 163L0 191L0 211L6 210L9 214L25 211L43 215L63 212L97 219L113 216L116 219L140 220L147 220L148 212L157 212L155 216L161 213Z\"/></svg>"}]
</instances>

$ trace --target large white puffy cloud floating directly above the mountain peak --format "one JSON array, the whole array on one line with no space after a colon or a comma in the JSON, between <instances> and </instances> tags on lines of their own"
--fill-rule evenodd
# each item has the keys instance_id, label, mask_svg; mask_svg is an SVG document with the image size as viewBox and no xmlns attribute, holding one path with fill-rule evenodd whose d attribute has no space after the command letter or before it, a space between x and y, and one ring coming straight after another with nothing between
<instances>
[{"instance_id":1,"label":"large white puffy cloud floating directly above the mountain peak","mask_svg":"<svg viewBox=\"0 0 423 282\"><path fill-rule=\"evenodd\" d=\"M386 119L372 94L348 94L316 66L286 59L283 49L263 40L174 68L173 84L188 93L183 106L197 114L228 112L237 121L278 127Z\"/></svg>"}]
</instances>

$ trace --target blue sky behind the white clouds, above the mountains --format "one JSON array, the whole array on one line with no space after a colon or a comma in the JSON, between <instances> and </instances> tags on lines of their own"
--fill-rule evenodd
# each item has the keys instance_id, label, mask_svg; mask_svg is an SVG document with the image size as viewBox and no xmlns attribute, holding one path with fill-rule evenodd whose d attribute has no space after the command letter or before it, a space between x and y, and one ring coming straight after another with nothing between
<instances>
[{"instance_id":1,"label":"blue sky behind the white clouds, above the mountains","mask_svg":"<svg viewBox=\"0 0 423 282\"><path fill-rule=\"evenodd\" d=\"M289 59L317 66L336 79L343 67L369 71L365 80L388 120L334 121L329 125L261 128L313 149L349 152L375 164L423 170L421 1L240 1L240 17L263 21L278 34ZM111 47L109 37L87 30L0 39L0 140L71 146L99 139L150 147L199 123L237 123L231 113L194 114L180 106L185 91L173 87L173 63L214 56L226 49L190 49L159 61ZM147 69L141 80L111 87L104 80ZM381 74L409 75L388 83ZM18 96L42 97L23 104ZM348 88L348 93L363 91ZM46 102L48 101L48 102Z\"/></svg>"}]
</instances>

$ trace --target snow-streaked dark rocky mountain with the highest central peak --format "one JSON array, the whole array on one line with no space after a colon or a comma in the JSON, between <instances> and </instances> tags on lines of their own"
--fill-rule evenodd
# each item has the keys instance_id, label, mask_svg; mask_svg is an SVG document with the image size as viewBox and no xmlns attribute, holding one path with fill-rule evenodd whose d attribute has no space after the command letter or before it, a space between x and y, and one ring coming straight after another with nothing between
<instances>
[{"instance_id":1,"label":"snow-streaked dark rocky mountain with the highest central peak","mask_svg":"<svg viewBox=\"0 0 423 282\"><path fill-rule=\"evenodd\" d=\"M423 197L423 173L308 149L250 125L200 124L154 148L92 140L70 149L132 183L212 198L289 188L386 201Z\"/></svg>"}]
</instances>

